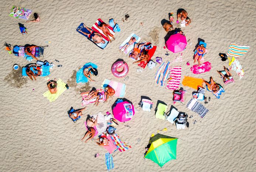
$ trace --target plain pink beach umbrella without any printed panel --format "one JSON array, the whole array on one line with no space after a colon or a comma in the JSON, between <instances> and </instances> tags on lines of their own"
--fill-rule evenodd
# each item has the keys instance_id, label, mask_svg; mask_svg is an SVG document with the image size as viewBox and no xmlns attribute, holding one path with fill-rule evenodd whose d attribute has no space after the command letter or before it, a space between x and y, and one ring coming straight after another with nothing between
<instances>
[{"instance_id":1,"label":"plain pink beach umbrella without any printed panel","mask_svg":"<svg viewBox=\"0 0 256 172\"><path fill-rule=\"evenodd\" d=\"M181 34L171 35L170 38L165 42L168 50L173 53L178 53L184 50L187 45L186 36Z\"/></svg>"}]
</instances>

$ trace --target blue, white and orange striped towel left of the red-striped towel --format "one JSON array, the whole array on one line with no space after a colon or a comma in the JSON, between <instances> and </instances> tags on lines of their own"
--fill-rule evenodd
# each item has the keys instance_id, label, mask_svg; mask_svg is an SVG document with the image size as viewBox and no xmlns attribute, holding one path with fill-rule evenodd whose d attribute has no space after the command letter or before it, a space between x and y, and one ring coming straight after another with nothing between
<instances>
[{"instance_id":1,"label":"blue, white and orange striped towel left of the red-striped towel","mask_svg":"<svg viewBox=\"0 0 256 172\"><path fill-rule=\"evenodd\" d=\"M158 84L159 86L165 85L165 80L169 75L169 70L168 70L169 65L170 65L170 62L168 61L164 62L156 72L155 81L156 81L156 84Z\"/></svg>"}]
</instances>

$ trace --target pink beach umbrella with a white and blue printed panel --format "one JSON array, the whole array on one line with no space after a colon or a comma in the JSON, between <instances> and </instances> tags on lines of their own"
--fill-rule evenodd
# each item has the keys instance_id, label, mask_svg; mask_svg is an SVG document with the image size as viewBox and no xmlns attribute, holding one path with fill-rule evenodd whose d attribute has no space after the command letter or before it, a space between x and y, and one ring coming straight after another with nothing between
<instances>
[{"instance_id":1,"label":"pink beach umbrella with a white and blue printed panel","mask_svg":"<svg viewBox=\"0 0 256 172\"><path fill-rule=\"evenodd\" d=\"M113 109L114 118L120 122L131 120L131 118L134 116L134 113L134 106L127 101L117 103Z\"/></svg>"}]
</instances>

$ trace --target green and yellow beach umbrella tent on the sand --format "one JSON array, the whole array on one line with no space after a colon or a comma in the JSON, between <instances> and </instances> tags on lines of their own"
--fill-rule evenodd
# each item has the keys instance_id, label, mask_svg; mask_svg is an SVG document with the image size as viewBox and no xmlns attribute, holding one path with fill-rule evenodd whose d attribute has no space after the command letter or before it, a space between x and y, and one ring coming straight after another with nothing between
<instances>
[{"instance_id":1,"label":"green and yellow beach umbrella tent on the sand","mask_svg":"<svg viewBox=\"0 0 256 172\"><path fill-rule=\"evenodd\" d=\"M177 140L178 138L175 137L156 134L149 141L151 146L145 158L151 159L162 167L166 162L176 159Z\"/></svg>"}]
</instances>

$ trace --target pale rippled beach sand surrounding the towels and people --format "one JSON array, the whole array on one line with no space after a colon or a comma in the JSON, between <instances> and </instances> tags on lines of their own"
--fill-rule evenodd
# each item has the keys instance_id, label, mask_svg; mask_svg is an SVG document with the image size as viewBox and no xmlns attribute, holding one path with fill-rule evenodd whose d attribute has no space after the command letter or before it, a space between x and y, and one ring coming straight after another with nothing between
<instances>
[{"instance_id":1,"label":"pale rippled beach sand surrounding the towels and people","mask_svg":"<svg viewBox=\"0 0 256 172\"><path fill-rule=\"evenodd\" d=\"M87 4L86 4L87 2ZM25 20L9 17L13 5L26 7L37 12L39 23L25 23ZM187 49L183 52L183 62L171 63L182 66L182 75L209 78L221 83L216 70L223 65L218 53L227 53L231 42L238 45L250 45L249 51L239 59L245 70L245 76L239 80L232 71L235 83L224 85L225 93L221 99L210 92L211 101L204 104L210 109L207 115L200 117L186 108L191 92L187 90L184 104L176 103L179 111L193 115L188 119L190 127L177 130L167 121L156 119L154 111L145 112L138 108L142 95L149 96L155 109L158 100L165 101L170 108L173 105L172 91L159 87L154 81L159 64L152 70L148 67L138 73L137 65L128 55L118 52L118 46L132 33L141 36L141 41L150 41L157 45L155 55L163 61L172 62L177 54L169 52L166 56L161 20L168 20L168 13L184 8L192 20L190 27L182 28L187 39ZM20 67L29 62L22 57L9 55L1 48L1 122L0 122L0 171L106 171L104 148L92 141L81 141L85 133L84 120L88 114L103 114L111 111L115 98L110 98L99 106L88 105L82 119L73 123L67 115L71 106L82 108L80 93L91 87L100 88L105 78L127 84L125 98L133 102L138 109L132 120L117 127L120 138L132 148L114 154L114 172L121 171L255 171L255 3L254 1L3 1L1 0L1 45L35 44L47 45L42 60L55 63L50 79L61 78L69 84L69 89L55 102L50 103L42 94L47 91L47 80L37 78L31 81L21 77L21 70L13 70L13 64ZM122 22L125 14L128 21ZM32 18L32 15L30 19ZM110 18L120 25L121 32L115 34L116 40L109 43L104 50L97 48L84 36L76 32L77 26L84 22L87 26L101 18L108 22ZM21 35L18 22L28 28L28 35ZM141 26L143 22L143 26ZM174 27L177 27L175 24ZM191 73L187 61L192 63L193 49L198 38L207 43L208 53L205 60L212 63L210 72L196 75ZM111 74L111 65L118 58L129 65L129 79L115 78ZM55 62L59 60L59 63ZM88 84L76 84L76 71L85 63L98 65L97 81ZM57 67L62 64L62 67ZM181 85L182 87L182 85ZM33 90L34 89L34 90ZM197 120L196 124L193 124ZM125 127L127 124L129 127ZM163 168L149 159L143 160L144 147L152 133L167 127L162 132L177 137L177 160L166 163ZM138 139L141 141L138 142ZM94 158L94 154L100 156Z\"/></svg>"}]
</instances>

